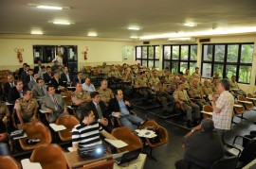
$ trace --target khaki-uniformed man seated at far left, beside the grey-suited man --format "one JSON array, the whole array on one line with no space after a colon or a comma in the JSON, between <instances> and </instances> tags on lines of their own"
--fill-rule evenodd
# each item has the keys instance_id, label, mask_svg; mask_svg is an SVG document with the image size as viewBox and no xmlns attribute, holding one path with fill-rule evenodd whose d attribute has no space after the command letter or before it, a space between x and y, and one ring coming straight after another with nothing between
<instances>
[{"instance_id":1,"label":"khaki-uniformed man seated at far left, beside the grey-suited man","mask_svg":"<svg viewBox=\"0 0 256 169\"><path fill-rule=\"evenodd\" d=\"M16 100L14 109L16 109L17 116L23 127L25 123L35 121L38 103L35 98L32 98L32 92L29 89L23 91L23 98Z\"/></svg>"}]
</instances>

